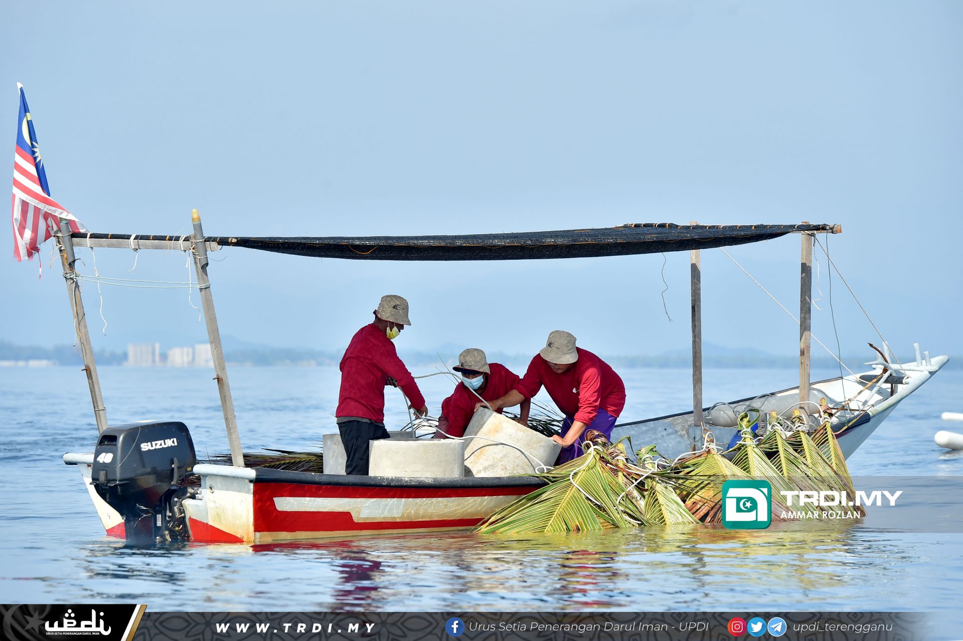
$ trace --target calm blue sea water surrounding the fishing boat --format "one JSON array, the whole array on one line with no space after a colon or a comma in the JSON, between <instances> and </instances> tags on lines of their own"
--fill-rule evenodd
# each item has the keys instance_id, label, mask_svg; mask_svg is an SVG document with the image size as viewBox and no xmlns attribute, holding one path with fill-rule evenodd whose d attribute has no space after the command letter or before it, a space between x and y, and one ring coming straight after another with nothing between
<instances>
[{"instance_id":1,"label":"calm blue sea water surrounding the fishing boat","mask_svg":"<svg viewBox=\"0 0 963 641\"><path fill-rule=\"evenodd\" d=\"M516 365L517 364L512 364ZM418 370L417 368L413 368ZM430 372L431 367L422 368ZM99 370L111 423L187 423L198 455L227 450L213 372ZM416 373L424 373L418 372ZM688 370L620 372L623 419L690 406ZM838 372L814 372L828 378ZM706 370L707 404L792 387L790 370ZM335 431L336 367L232 368L246 450L307 449ZM421 381L436 413L453 383ZM556 536L465 532L273 545L127 547L105 536L66 451L96 428L79 367L0 369L0 601L148 603L151 610L936 610L963 594L963 534L865 523L692 526ZM387 421L407 421L386 389ZM853 475L963 475L933 444L963 411L963 372L940 372L850 459ZM963 426L963 425L961 425ZM963 431L963 430L961 430ZM636 448L645 444L634 444Z\"/></svg>"}]
</instances>

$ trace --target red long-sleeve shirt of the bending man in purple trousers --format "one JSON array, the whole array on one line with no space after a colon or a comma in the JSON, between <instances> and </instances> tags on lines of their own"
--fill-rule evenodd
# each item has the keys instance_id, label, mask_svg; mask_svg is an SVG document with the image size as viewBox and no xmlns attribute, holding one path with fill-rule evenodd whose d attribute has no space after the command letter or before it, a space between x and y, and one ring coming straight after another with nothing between
<instances>
[{"instance_id":1,"label":"red long-sleeve shirt of the bending man in purple trousers","mask_svg":"<svg viewBox=\"0 0 963 641\"><path fill-rule=\"evenodd\" d=\"M625 384L608 363L582 347L577 349L579 360L560 374L552 372L548 362L535 354L514 389L531 398L544 385L562 413L582 423L594 421L600 407L617 417L625 407Z\"/></svg>"}]
</instances>

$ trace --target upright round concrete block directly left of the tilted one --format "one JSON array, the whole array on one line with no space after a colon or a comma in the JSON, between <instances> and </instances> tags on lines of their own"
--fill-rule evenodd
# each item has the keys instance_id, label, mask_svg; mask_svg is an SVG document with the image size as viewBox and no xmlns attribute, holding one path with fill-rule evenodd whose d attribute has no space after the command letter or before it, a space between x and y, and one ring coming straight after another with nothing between
<instances>
[{"instance_id":1,"label":"upright round concrete block directly left of the tilted one","mask_svg":"<svg viewBox=\"0 0 963 641\"><path fill-rule=\"evenodd\" d=\"M455 439L382 439L371 444L372 476L462 478L465 443Z\"/></svg>"}]
</instances>

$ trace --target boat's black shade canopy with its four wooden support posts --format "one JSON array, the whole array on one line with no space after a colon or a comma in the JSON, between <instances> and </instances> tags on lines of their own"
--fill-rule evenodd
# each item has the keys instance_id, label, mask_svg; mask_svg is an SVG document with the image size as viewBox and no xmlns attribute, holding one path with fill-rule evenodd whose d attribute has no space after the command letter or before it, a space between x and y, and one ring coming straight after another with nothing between
<instances>
[{"instance_id":1,"label":"boat's black shade canopy with its four wooden support posts","mask_svg":"<svg viewBox=\"0 0 963 641\"><path fill-rule=\"evenodd\" d=\"M691 335L692 335L692 417L696 427L703 427L702 417L702 313L700 250L738 244L759 243L787 234L800 234L802 251L799 277L799 400L809 399L809 368L813 285L813 243L816 234L839 234L838 224L755 224L755 225L689 225L671 222L629 223L616 227L569 229L503 234L463 234L450 236L367 236L367 237L234 237L205 236L197 210L192 213L193 234L143 235L71 232L62 221L57 243L64 267L64 278L91 390L98 432L107 428L107 414L96 364L93 359L90 332L80 294L78 274L74 267L74 247L124 249L190 250L194 257L197 288L207 327L215 377L221 396L221 411L231 451L231 463L244 468L244 454L238 433L234 402L227 379L221 335L218 328L211 281L207 274L208 251L221 247L244 247L275 253L317 258L388 261L479 261L479 260L546 260L566 258L599 258L629 256L672 251L690 252ZM693 443L693 447L696 444Z\"/></svg>"}]
</instances>

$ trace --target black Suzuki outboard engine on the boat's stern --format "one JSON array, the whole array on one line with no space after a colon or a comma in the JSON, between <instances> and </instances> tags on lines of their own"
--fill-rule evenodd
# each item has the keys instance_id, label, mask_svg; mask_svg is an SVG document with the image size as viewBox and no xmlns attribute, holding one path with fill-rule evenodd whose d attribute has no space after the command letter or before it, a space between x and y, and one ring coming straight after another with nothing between
<instances>
[{"instance_id":1,"label":"black Suzuki outboard engine on the boat's stern","mask_svg":"<svg viewBox=\"0 0 963 641\"><path fill-rule=\"evenodd\" d=\"M128 541L186 539L181 501L195 488L184 487L183 481L196 463L184 423L114 425L97 440L91 485L123 517Z\"/></svg>"}]
</instances>

